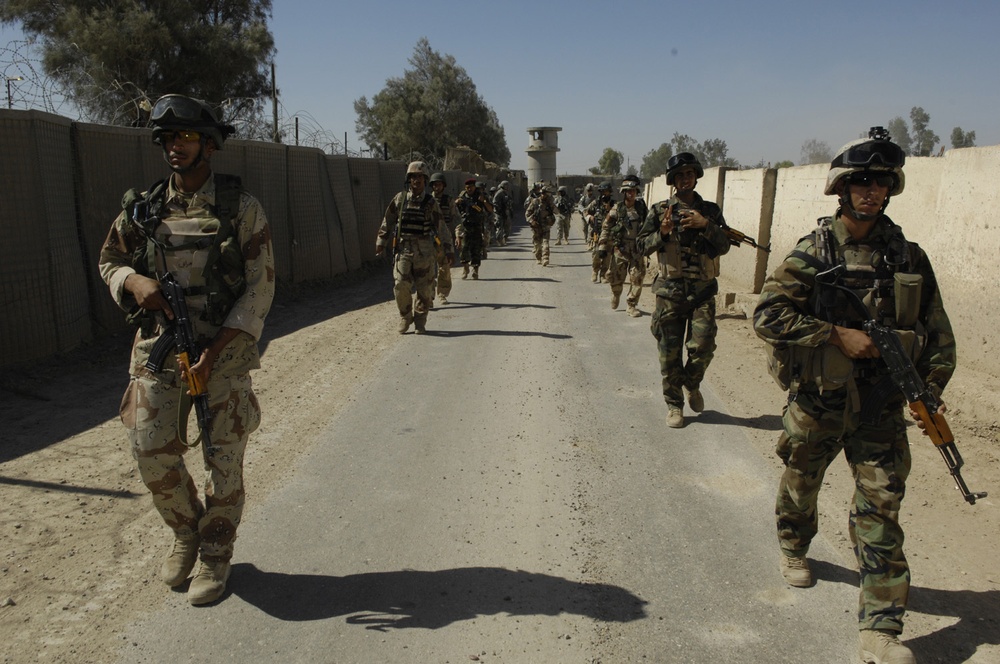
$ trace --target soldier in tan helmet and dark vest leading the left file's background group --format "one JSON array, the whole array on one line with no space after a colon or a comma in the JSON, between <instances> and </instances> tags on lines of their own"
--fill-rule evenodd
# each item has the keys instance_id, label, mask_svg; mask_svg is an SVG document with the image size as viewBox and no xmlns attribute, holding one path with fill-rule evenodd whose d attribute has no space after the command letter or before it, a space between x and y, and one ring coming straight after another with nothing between
<instances>
[{"instance_id":1,"label":"soldier in tan helmet and dark vest leading the left file's background group","mask_svg":"<svg viewBox=\"0 0 1000 664\"><path fill-rule=\"evenodd\" d=\"M427 312L434 303L434 278L438 258L436 244L441 243L445 261L455 259L451 233L434 196L427 192L430 174L422 161L406 168L406 191L389 201L382 226L375 240L375 255L392 247L393 293L399 308L399 333L406 334L413 323L417 334L427 331ZM413 293L417 301L413 302Z\"/></svg>"}]
</instances>

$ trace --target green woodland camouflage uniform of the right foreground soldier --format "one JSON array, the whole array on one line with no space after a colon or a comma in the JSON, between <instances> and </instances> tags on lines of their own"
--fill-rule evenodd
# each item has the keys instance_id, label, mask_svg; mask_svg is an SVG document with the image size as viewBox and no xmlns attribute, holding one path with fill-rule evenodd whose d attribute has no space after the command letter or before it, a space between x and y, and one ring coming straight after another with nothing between
<instances>
[{"instance_id":1,"label":"green woodland camouflage uniform of the right foreground soldier","mask_svg":"<svg viewBox=\"0 0 1000 664\"><path fill-rule=\"evenodd\" d=\"M862 240L851 238L839 216L829 227L834 240L832 256L849 270L852 265L861 268L848 272L844 285L859 295L868 294L866 303L874 301L871 294L881 289L876 297L880 304L873 313L883 324L906 328L896 324L893 279L879 272L888 269L887 261L881 258L890 252L893 238L902 239L898 227L883 215ZM922 325L926 330L925 335L918 333L925 345L915 363L930 389L940 394L955 368L955 339L926 254L916 244L902 246L906 255L903 271L921 275L923 283L919 324L909 326L919 330ZM834 352L847 363L849 376L846 382L831 383L830 371L825 369L828 364L824 364L823 371L813 371L813 380L793 383L782 416L785 430L777 444L778 456L785 464L775 505L778 540L785 555L805 556L818 528L816 505L824 473L843 449L855 484L849 529L861 571L860 629L899 633L910 585L899 523L910 471L903 398L893 394L882 406L876 423L861 421L859 406L866 403L887 369L875 359L852 362L828 344L834 322L856 328L861 320L843 301L843 295L838 295L841 299L832 306L824 305L826 309L819 306L816 274L828 267L820 257L816 235L806 236L764 284L754 312L754 330L775 348ZM879 284L886 278L888 292ZM920 348L919 343L915 346Z\"/></svg>"}]
</instances>

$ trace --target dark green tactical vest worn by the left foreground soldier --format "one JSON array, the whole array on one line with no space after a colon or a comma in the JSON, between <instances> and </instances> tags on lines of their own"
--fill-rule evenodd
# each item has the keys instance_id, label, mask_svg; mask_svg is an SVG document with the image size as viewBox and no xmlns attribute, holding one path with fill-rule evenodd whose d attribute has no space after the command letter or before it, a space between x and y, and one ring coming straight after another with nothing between
<instances>
[{"instance_id":1,"label":"dark green tactical vest worn by the left foreground soldier","mask_svg":"<svg viewBox=\"0 0 1000 664\"><path fill-rule=\"evenodd\" d=\"M132 267L145 277L158 278L157 252L161 252L161 258L166 261L168 253L208 249L203 268L204 285L185 288L184 294L204 295L205 308L201 319L219 327L246 290L246 276L243 251L234 233L242 183L239 176L223 173L214 174L214 179L215 205L212 213L219 220L219 231L210 237L176 246L165 246L156 240L156 229L162 222L166 202L167 180L156 182L145 194L135 189L128 190L122 197L122 209L125 211L125 223L133 224L146 238L146 242L140 243L132 254ZM129 312L126 320L140 325L143 338L148 338L155 327L153 316L140 307Z\"/></svg>"}]
</instances>

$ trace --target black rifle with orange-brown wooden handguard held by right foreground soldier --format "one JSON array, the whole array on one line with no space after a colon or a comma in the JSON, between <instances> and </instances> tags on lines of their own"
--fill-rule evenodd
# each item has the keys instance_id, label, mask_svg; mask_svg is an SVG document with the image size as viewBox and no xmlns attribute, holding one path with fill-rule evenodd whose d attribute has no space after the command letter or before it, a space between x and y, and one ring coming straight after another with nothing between
<instances>
[{"instance_id":1,"label":"black rifle with orange-brown wooden handguard held by right foreground soldier","mask_svg":"<svg viewBox=\"0 0 1000 664\"><path fill-rule=\"evenodd\" d=\"M975 505L976 500L986 497L986 492L969 491L965 480L962 479L962 465L965 462L962 460L962 455L959 454L958 448L955 446L955 437L951 433L948 422L944 419L944 415L938 412L941 402L924 385L923 380L921 380L920 375L917 373L916 367L913 366L913 360L910 359L909 354L903 348L899 336L891 329L884 325L879 325L875 319L871 318L868 307L865 306L865 303L857 293L850 288L834 283L837 276L845 270L846 268L843 265L838 265L826 272L817 274L816 283L821 286L839 289L848 295L848 301L851 302L855 310L864 318L862 328L871 337L872 343L878 348L879 357L889 368L889 375L875 385L872 396L862 406L861 421L877 423L886 399L894 389L898 389L903 393L910 409L917 413L917 417L923 423L924 430L930 436L931 442L941 452L944 463L948 466L948 472L951 474L952 479L955 480L958 490L962 492L962 497L970 505Z\"/></svg>"}]
</instances>

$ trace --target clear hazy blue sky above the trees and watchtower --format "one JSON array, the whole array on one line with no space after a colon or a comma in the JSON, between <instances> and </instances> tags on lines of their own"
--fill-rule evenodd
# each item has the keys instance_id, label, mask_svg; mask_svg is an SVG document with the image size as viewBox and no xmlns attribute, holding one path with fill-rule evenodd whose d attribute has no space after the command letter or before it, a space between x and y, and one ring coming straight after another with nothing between
<instances>
[{"instance_id":1,"label":"clear hazy blue sky above the trees and watchtower","mask_svg":"<svg viewBox=\"0 0 1000 664\"><path fill-rule=\"evenodd\" d=\"M948 147L956 126L1000 143L994 0L275 0L270 27L283 123L347 132L351 149L354 100L401 76L421 37L496 111L514 168L533 126L563 128L560 174L606 147L638 166L674 132L721 138L743 164L798 163L808 139L835 149L913 106Z\"/></svg>"}]
</instances>

